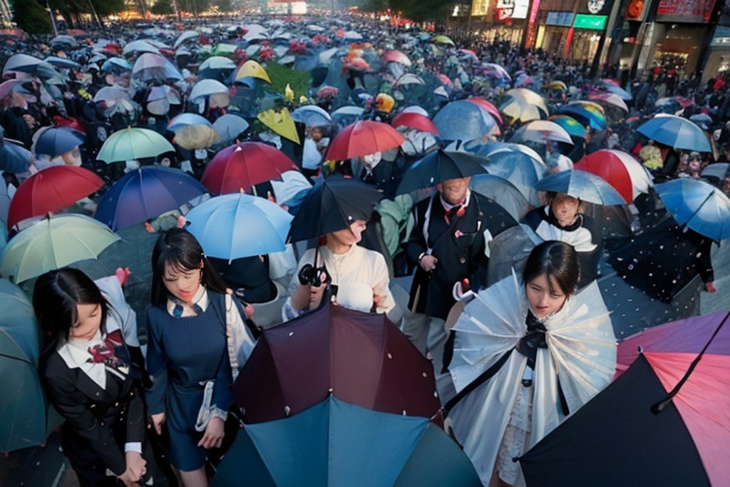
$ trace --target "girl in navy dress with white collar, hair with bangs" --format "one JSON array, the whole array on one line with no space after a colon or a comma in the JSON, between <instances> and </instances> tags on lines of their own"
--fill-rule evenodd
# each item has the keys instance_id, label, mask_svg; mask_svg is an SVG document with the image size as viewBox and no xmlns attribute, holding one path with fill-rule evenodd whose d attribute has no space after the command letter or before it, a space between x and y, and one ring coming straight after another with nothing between
<instances>
[{"instance_id":1,"label":"girl in navy dress with white collar, hair with bangs","mask_svg":"<svg viewBox=\"0 0 730 487\"><path fill-rule=\"evenodd\" d=\"M183 487L208 485L207 449L223 441L234 372L253 350L240 302L184 229L162 234L152 255L152 306L147 310L147 404L153 427L169 432L169 461ZM243 318L242 318L243 317ZM202 384L214 380L211 394ZM199 423L204 403L207 426ZM196 430L196 423L199 429Z\"/></svg>"}]
</instances>

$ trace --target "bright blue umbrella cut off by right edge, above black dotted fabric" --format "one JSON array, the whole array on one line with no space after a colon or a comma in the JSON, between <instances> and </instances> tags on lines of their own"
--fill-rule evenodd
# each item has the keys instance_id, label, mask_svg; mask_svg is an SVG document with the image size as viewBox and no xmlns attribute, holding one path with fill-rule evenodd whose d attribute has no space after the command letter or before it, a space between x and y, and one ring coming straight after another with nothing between
<instances>
[{"instance_id":1,"label":"bright blue umbrella cut off by right edge, above black dotted fabric","mask_svg":"<svg viewBox=\"0 0 730 487\"><path fill-rule=\"evenodd\" d=\"M656 193L677 223L721 242L730 237L730 199L710 183L678 178L655 185Z\"/></svg>"}]
</instances>

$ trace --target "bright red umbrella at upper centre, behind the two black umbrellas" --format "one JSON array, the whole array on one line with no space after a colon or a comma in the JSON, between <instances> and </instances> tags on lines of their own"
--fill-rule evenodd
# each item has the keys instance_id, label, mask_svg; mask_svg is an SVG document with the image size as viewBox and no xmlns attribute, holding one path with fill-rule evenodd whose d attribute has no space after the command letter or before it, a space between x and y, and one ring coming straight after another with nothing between
<instances>
[{"instance_id":1,"label":"bright red umbrella at upper centre, behind the two black umbrellas","mask_svg":"<svg viewBox=\"0 0 730 487\"><path fill-rule=\"evenodd\" d=\"M342 129L330 142L325 158L329 161L345 161L395 149L403 142L405 137L387 123L358 120Z\"/></svg>"}]
</instances>

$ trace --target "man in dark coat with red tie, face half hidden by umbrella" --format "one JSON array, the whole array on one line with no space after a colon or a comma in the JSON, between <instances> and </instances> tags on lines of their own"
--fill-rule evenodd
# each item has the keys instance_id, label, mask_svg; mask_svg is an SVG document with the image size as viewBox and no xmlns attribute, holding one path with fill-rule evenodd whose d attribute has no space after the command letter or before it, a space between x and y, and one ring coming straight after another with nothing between
<instances>
[{"instance_id":1,"label":"man in dark coat with red tie, face half hidden by umbrella","mask_svg":"<svg viewBox=\"0 0 730 487\"><path fill-rule=\"evenodd\" d=\"M445 320L456 303L455 289L486 285L488 242L517 224L499 204L469 190L470 179L443 181L412 210L407 254L418 262L408 303L412 312Z\"/></svg>"}]
</instances>

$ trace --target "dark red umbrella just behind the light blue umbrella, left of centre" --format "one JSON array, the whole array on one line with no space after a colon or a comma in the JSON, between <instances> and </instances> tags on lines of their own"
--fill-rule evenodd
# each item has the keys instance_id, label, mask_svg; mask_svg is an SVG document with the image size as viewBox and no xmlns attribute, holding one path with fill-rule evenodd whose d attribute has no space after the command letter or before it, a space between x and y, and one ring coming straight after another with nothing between
<instances>
[{"instance_id":1,"label":"dark red umbrella just behind the light blue umbrella, left of centre","mask_svg":"<svg viewBox=\"0 0 730 487\"><path fill-rule=\"evenodd\" d=\"M280 179L297 169L282 151L264 142L239 142L220 150L208 163L200 182L211 193L238 193L259 183Z\"/></svg>"}]
</instances>

